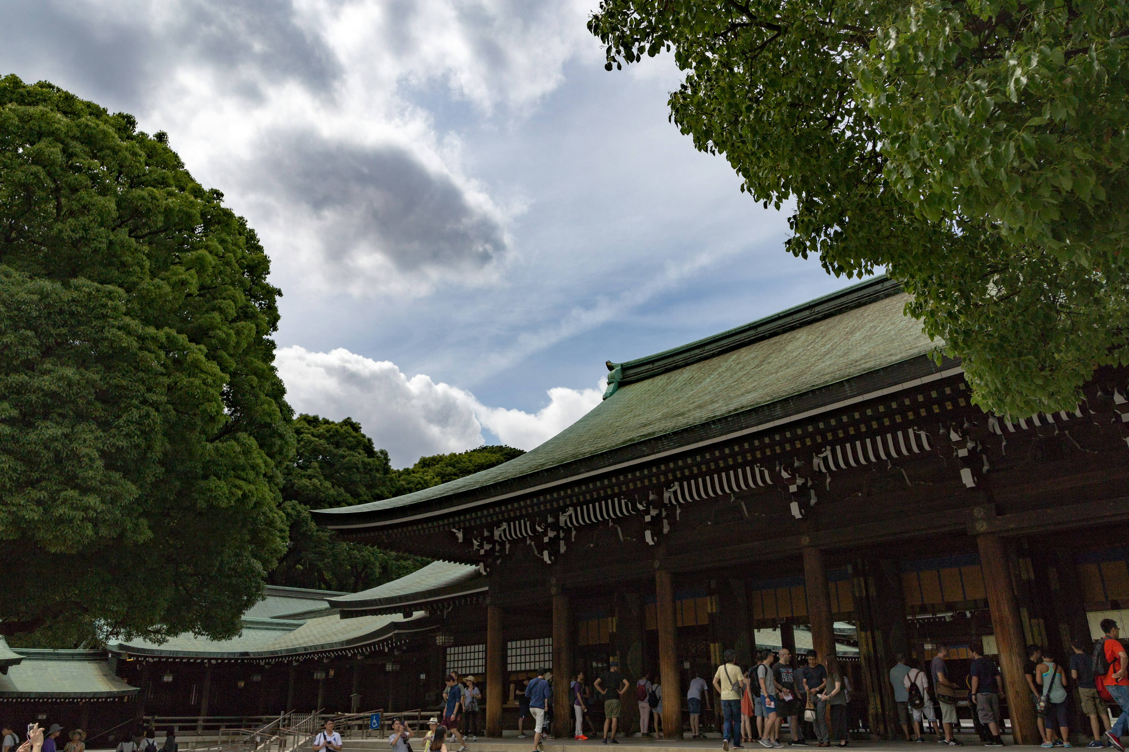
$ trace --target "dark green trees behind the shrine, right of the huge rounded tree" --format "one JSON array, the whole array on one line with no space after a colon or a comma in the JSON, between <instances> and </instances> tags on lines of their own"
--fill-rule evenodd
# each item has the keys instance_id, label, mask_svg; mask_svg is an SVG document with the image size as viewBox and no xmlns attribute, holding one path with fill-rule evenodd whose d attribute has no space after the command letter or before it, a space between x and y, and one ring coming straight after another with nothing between
<instances>
[{"instance_id":1,"label":"dark green trees behind the shrine, right of the huge rounded tree","mask_svg":"<svg viewBox=\"0 0 1129 752\"><path fill-rule=\"evenodd\" d=\"M522 454L509 446L480 446L457 454L421 458L392 469L352 418L299 415L297 452L283 471L283 511L290 524L286 556L270 574L274 585L357 592L414 572L428 559L339 540L318 528L309 510L365 504L461 478Z\"/></svg>"}]
</instances>

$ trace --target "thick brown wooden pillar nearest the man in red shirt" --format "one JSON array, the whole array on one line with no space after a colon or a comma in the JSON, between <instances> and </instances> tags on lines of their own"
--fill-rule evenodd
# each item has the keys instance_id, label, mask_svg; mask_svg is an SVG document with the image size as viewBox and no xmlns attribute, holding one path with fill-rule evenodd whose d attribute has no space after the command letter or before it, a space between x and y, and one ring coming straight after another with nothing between
<instances>
[{"instance_id":1,"label":"thick brown wooden pillar nearest the man in red shirt","mask_svg":"<svg viewBox=\"0 0 1129 752\"><path fill-rule=\"evenodd\" d=\"M983 570L996 647L999 651L997 658L1004 674L1004 691L1007 692L1007 708L1012 716L1012 734L1016 744L1038 744L1041 740L1035 726L1035 708L1027 697L1027 681L1023 675L1025 643L1019 603L1012 582L1012 564L999 536L977 536L977 545L980 548L980 568Z\"/></svg>"}]
</instances>

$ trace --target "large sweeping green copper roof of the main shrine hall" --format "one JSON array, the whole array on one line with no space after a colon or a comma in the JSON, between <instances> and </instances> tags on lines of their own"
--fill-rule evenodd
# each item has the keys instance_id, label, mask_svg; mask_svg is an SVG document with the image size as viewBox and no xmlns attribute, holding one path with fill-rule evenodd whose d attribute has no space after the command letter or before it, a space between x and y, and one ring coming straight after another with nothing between
<instances>
[{"instance_id":1,"label":"large sweeping green copper roof of the main shrine hall","mask_svg":"<svg viewBox=\"0 0 1129 752\"><path fill-rule=\"evenodd\" d=\"M314 519L343 528L364 527L374 513L380 520L408 517L414 514L408 507L423 502L487 489L919 357L937 343L902 313L908 300L894 283L878 277L759 322L629 361L619 366L614 393L536 449L404 496L315 510Z\"/></svg>"}]
</instances>

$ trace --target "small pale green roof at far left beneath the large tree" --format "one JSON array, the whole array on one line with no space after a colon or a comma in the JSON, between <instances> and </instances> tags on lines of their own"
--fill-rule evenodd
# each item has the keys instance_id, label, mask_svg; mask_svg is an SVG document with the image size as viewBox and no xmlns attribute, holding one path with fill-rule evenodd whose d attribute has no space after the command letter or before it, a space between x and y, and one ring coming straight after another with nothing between
<instances>
[{"instance_id":1,"label":"small pale green roof at far left beneath the large tree","mask_svg":"<svg viewBox=\"0 0 1129 752\"><path fill-rule=\"evenodd\" d=\"M110 669L103 651L26 651L0 675L0 700L111 700L137 695Z\"/></svg>"}]
</instances>

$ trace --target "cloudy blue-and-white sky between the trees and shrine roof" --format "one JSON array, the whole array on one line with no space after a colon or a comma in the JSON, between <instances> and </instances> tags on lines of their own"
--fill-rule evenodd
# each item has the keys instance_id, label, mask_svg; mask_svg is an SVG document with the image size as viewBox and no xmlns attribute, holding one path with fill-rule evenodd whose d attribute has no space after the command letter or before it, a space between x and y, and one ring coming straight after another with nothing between
<instances>
[{"instance_id":1,"label":"cloudy blue-and-white sky between the trees and shrine roof","mask_svg":"<svg viewBox=\"0 0 1129 752\"><path fill-rule=\"evenodd\" d=\"M847 284L571 0L7 0L0 73L167 131L260 232L296 409L531 449L639 357Z\"/></svg>"}]
</instances>

